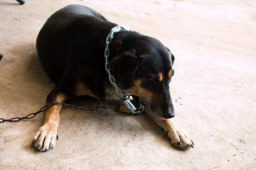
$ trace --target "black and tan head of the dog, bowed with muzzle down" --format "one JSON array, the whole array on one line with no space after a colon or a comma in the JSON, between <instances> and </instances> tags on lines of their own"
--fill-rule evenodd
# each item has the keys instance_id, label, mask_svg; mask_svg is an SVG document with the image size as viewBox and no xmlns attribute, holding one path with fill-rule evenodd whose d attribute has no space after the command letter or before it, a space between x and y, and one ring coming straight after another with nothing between
<instances>
[{"instance_id":1,"label":"black and tan head of the dog, bowed with muzzle down","mask_svg":"<svg viewBox=\"0 0 256 170\"><path fill-rule=\"evenodd\" d=\"M120 53L110 62L118 86L126 94L138 96L158 120L174 117L169 87L174 56L151 37L130 41L122 41Z\"/></svg>"}]
</instances>

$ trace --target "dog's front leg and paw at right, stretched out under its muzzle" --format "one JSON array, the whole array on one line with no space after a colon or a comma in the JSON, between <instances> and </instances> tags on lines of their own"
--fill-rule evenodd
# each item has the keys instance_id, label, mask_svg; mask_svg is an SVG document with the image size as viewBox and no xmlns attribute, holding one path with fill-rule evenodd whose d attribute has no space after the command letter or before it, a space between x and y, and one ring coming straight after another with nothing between
<instances>
[{"instance_id":1,"label":"dog's front leg and paw at right, stretched out under its muzzle","mask_svg":"<svg viewBox=\"0 0 256 170\"><path fill-rule=\"evenodd\" d=\"M172 145L182 148L188 149L194 146L191 137L187 134L184 129L178 127L172 119L166 119L164 121L157 121L155 116L153 116L148 110L146 113L153 118L160 126L164 129L164 132L171 138Z\"/></svg>"}]
</instances>

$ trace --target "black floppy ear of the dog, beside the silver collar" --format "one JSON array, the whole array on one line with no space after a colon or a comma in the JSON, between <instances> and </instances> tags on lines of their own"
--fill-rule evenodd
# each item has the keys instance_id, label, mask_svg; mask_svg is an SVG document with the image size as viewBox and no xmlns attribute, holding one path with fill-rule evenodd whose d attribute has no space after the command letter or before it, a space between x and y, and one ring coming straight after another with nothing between
<instances>
[{"instance_id":1,"label":"black floppy ear of the dog, beside the silver collar","mask_svg":"<svg viewBox=\"0 0 256 170\"><path fill-rule=\"evenodd\" d=\"M132 84L137 65L138 56L135 50L127 50L110 61L114 78L122 84L122 88L127 88L128 84Z\"/></svg>"}]
</instances>

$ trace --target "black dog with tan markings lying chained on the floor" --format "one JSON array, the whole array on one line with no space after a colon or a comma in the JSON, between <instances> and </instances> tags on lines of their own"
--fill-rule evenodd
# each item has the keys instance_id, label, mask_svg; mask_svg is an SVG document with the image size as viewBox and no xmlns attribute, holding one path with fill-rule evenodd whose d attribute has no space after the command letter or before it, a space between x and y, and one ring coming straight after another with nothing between
<instances>
[{"instance_id":1,"label":"black dog with tan markings lying chained on the floor","mask_svg":"<svg viewBox=\"0 0 256 170\"><path fill-rule=\"evenodd\" d=\"M64 102L81 95L117 99L105 70L105 40L117 24L98 12L69 5L55 12L44 24L36 42L38 56L49 78L56 83L47 104ZM171 143L193 147L184 130L168 118L174 117L169 84L174 75L174 56L160 41L132 31L114 35L109 45L109 63L124 94L131 94L168 133ZM33 145L40 151L55 147L60 106L46 112L44 125Z\"/></svg>"}]
</instances>

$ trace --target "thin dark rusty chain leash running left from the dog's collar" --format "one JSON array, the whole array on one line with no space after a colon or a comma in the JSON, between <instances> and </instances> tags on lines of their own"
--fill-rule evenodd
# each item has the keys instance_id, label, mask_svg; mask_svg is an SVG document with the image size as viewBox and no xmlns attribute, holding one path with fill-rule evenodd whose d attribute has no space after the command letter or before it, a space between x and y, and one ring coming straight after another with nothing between
<instances>
[{"instance_id":1,"label":"thin dark rusty chain leash running left from the dog's collar","mask_svg":"<svg viewBox=\"0 0 256 170\"><path fill-rule=\"evenodd\" d=\"M113 105L117 105L119 103L122 103L125 100L128 100L130 98L130 96L131 95L125 95L125 96L122 97L122 99L119 99L119 100L117 100L113 103L110 103L110 104L101 105L100 107L77 107L76 105L72 105L72 104L55 102L55 103L52 103L52 104L49 104L49 105L45 105L38 112L30 113L30 114L28 114L27 116L24 116L24 117L13 117L13 118L10 118L10 119L0 118L0 123L3 123L3 122L18 122L18 121L21 121L21 120L31 119L31 118L35 117L37 114L42 113L42 112L46 111L47 109L53 107L53 105L58 105L58 106L62 106L62 107L67 107L67 108L72 109L72 110L81 110L81 111L97 111L98 109L107 109L107 108L113 107Z\"/></svg>"}]
</instances>

